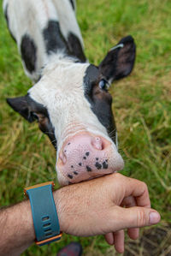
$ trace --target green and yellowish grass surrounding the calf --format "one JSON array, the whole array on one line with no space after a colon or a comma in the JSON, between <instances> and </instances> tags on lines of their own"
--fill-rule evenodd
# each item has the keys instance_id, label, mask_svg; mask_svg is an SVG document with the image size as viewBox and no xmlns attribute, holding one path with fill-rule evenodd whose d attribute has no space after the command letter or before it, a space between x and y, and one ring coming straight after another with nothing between
<instances>
[{"instance_id":1,"label":"green and yellowish grass surrounding the calf","mask_svg":"<svg viewBox=\"0 0 171 256\"><path fill-rule=\"evenodd\" d=\"M125 159L122 173L147 183L152 207L160 211L162 223L168 223L171 210L171 2L79 0L77 15L85 40L85 54L91 63L100 63L109 48L127 34L136 40L137 61L133 74L110 89L120 151ZM2 9L0 45L0 199L3 206L21 201L22 188L28 185L56 181L56 152L48 138L38 131L36 123L28 124L5 102L5 98L26 94L32 83L23 72ZM109 246L102 236L68 235L58 244L32 246L22 255L53 256L69 241L80 241L85 255L109 255Z\"/></svg>"}]
</instances>

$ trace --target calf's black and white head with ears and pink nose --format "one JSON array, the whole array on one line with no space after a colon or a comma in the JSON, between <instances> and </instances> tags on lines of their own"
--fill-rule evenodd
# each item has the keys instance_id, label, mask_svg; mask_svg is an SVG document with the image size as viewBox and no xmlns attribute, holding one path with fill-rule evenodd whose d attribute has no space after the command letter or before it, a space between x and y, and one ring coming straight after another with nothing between
<instances>
[{"instance_id":1,"label":"calf's black and white head with ears and pink nose","mask_svg":"<svg viewBox=\"0 0 171 256\"><path fill-rule=\"evenodd\" d=\"M39 128L56 147L61 185L103 176L123 168L117 151L109 85L133 69L135 44L128 36L99 66L56 57L27 95L8 98L9 105Z\"/></svg>"}]
</instances>

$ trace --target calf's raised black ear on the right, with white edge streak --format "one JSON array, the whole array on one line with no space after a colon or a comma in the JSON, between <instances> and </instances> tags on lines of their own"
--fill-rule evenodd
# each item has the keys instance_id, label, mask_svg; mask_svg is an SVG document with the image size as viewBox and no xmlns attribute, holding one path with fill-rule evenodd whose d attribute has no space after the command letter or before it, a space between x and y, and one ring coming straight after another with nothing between
<instances>
[{"instance_id":1,"label":"calf's raised black ear on the right, with white edge streak","mask_svg":"<svg viewBox=\"0 0 171 256\"><path fill-rule=\"evenodd\" d=\"M109 81L119 80L133 70L136 45L132 36L127 36L108 52L99 65L100 72Z\"/></svg>"}]
</instances>

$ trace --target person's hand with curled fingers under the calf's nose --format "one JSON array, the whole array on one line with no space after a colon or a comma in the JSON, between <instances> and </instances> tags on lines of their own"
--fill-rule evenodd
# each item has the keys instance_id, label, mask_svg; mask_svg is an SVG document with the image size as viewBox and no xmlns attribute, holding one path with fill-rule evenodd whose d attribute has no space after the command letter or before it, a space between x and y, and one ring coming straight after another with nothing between
<instances>
[{"instance_id":1,"label":"person's hand with curled fingers under the calf's nose","mask_svg":"<svg viewBox=\"0 0 171 256\"><path fill-rule=\"evenodd\" d=\"M123 229L136 239L139 227L160 221L159 213L150 208L145 183L118 173L61 188L54 199L63 232L105 235L119 253L124 251Z\"/></svg>"}]
</instances>

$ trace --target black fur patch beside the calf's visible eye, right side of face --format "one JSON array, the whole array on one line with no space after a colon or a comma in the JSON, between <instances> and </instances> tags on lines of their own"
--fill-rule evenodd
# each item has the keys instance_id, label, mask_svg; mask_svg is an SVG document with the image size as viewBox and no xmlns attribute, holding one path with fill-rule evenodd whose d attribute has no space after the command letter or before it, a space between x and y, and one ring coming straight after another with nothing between
<instances>
[{"instance_id":1,"label":"black fur patch beside the calf's visible eye, right side of face","mask_svg":"<svg viewBox=\"0 0 171 256\"><path fill-rule=\"evenodd\" d=\"M93 94L93 88L97 86L100 75L100 71L96 66L90 65L86 68L84 77L85 98L91 104L91 110L97 116L99 122L107 129L109 137L116 142L115 134L113 133L113 131L116 131L116 128L111 109L112 98L109 92L102 92L103 97L101 98L97 98L96 95Z\"/></svg>"}]
</instances>

